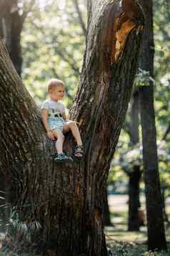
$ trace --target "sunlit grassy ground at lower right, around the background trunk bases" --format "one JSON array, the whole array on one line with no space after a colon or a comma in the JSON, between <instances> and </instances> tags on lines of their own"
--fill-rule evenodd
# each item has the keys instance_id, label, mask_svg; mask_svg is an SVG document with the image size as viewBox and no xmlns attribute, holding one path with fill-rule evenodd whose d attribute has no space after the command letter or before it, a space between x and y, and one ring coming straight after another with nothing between
<instances>
[{"instance_id":1,"label":"sunlit grassy ground at lower right, around the background trunk bases","mask_svg":"<svg viewBox=\"0 0 170 256\"><path fill-rule=\"evenodd\" d=\"M148 252L147 230L141 227L139 232L127 231L127 212L114 212L111 214L113 226L105 227L106 243L114 256L170 256L170 243L168 251ZM166 229L166 240L170 241L170 229Z\"/></svg>"}]
</instances>

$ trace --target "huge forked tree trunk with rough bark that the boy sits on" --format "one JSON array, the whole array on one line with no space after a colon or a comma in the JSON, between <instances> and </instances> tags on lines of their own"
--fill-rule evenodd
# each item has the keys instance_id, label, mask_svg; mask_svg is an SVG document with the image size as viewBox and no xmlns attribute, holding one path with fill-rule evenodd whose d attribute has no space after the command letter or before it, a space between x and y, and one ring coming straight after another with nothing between
<instances>
[{"instance_id":1,"label":"huge forked tree trunk with rough bark that the boy sits on","mask_svg":"<svg viewBox=\"0 0 170 256\"><path fill-rule=\"evenodd\" d=\"M143 29L141 10L134 1L127 9L128 2L123 1L121 8L119 1L89 1L84 65L70 115L79 122L84 141L80 162L53 161L54 143L46 137L39 110L0 43L0 168L11 173L20 222L34 240L41 237L46 255L107 254L104 191ZM71 153L71 136L65 147Z\"/></svg>"}]
</instances>

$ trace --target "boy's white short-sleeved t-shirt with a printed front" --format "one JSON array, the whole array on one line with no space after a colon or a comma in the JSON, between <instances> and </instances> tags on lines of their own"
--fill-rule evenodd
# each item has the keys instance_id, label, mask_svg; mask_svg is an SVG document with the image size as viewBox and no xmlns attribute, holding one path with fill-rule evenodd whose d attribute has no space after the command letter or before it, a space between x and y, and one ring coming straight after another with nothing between
<instances>
[{"instance_id":1,"label":"boy's white short-sleeved t-shirt with a printed front","mask_svg":"<svg viewBox=\"0 0 170 256\"><path fill-rule=\"evenodd\" d=\"M47 99L42 103L41 109L46 108L49 110L49 115L54 118L56 115L64 115L66 113L66 108L64 104L59 101L54 101Z\"/></svg>"}]
</instances>

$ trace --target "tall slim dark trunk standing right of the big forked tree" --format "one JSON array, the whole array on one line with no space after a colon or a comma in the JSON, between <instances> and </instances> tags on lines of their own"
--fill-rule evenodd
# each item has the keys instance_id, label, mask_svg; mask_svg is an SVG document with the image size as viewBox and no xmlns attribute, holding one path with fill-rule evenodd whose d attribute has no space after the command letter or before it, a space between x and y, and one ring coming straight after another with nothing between
<instances>
[{"instance_id":1,"label":"tall slim dark trunk standing right of the big forked tree","mask_svg":"<svg viewBox=\"0 0 170 256\"><path fill-rule=\"evenodd\" d=\"M144 6L146 29L139 61L142 70L154 75L154 35L152 1ZM148 86L140 87L141 127L144 158L144 179L146 186L146 213L149 250L166 249L164 220L162 214L161 189L159 179L158 156L156 148L156 127L154 114L154 88L149 80Z\"/></svg>"}]
</instances>

